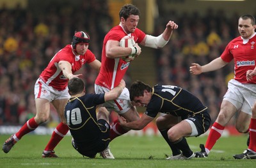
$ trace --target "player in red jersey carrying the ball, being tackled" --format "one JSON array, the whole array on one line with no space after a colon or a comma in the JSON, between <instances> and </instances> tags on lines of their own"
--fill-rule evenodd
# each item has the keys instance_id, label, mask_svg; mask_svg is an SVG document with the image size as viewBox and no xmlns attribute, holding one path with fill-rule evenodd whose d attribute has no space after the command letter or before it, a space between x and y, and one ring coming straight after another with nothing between
<instances>
[{"instance_id":1,"label":"player in red jersey carrying the ball, being tackled","mask_svg":"<svg viewBox=\"0 0 256 168\"><path fill-rule=\"evenodd\" d=\"M175 22L169 21L166 24L166 29L164 29L164 32L159 36L155 37L145 34L145 32L137 28L140 20L140 10L132 4L125 4L120 10L119 17L120 24L113 27L108 34L106 34L103 41L102 66L99 76L97 76L95 81L96 94L109 92L109 90L120 83L122 78L124 78L129 64L131 64L131 62L125 62L122 58L134 54L138 57L141 54L141 48L138 44L150 48L162 48L168 43L173 30L178 28ZM120 40L124 38L124 36L133 38L136 44L127 48L120 46ZM127 122L140 119L134 106L131 106L129 90L127 88L123 90L118 99L106 102L104 106L109 111L116 111L118 115L124 116ZM118 120L114 121L110 131L111 140L128 131L129 129L124 129L119 125ZM114 158L109 148L106 148L101 154L106 158Z\"/></svg>"}]
</instances>

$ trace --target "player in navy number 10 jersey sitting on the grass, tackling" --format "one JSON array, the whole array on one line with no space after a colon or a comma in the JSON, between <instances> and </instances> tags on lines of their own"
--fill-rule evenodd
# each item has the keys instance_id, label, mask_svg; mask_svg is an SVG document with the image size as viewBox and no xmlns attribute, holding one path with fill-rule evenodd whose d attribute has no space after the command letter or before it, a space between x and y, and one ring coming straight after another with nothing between
<instances>
[{"instance_id":1,"label":"player in navy number 10 jersey sitting on the grass, tackling","mask_svg":"<svg viewBox=\"0 0 256 168\"><path fill-rule=\"evenodd\" d=\"M65 106L65 118L72 135L72 146L83 156L95 158L110 142L109 111L102 107L96 116L96 106L116 99L125 88L125 82L104 94L85 94L80 78L68 81L70 100Z\"/></svg>"}]
</instances>

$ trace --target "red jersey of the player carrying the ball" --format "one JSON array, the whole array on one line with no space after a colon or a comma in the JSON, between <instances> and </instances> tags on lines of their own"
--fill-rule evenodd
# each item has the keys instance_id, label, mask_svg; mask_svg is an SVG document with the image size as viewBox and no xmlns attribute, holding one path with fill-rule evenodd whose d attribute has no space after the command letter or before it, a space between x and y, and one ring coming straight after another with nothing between
<instances>
[{"instance_id":1,"label":"red jersey of the player carrying the ball","mask_svg":"<svg viewBox=\"0 0 256 168\"><path fill-rule=\"evenodd\" d=\"M132 37L136 43L141 43L146 36L146 34L138 28L136 28L131 34L126 34L120 25L113 27L108 34L106 34L103 41L100 73L97 76L95 84L106 87L110 90L119 85L122 78L124 78L124 74L127 71L130 62L125 62L120 58L107 58L106 43L108 40L120 41L127 35Z\"/></svg>"}]
</instances>

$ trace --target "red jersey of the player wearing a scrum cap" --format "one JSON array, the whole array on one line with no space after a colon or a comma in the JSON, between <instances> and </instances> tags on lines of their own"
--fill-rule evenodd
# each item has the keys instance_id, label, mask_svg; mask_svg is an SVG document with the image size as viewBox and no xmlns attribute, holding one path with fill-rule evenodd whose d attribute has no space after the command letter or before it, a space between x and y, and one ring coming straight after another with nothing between
<instances>
[{"instance_id":1,"label":"red jersey of the player wearing a scrum cap","mask_svg":"<svg viewBox=\"0 0 256 168\"><path fill-rule=\"evenodd\" d=\"M87 50L84 55L75 55L71 45L67 45L54 55L48 66L40 74L40 78L56 90L64 90L68 85L68 79L63 75L58 63L61 60L67 60L72 66L72 73L75 73L83 64L93 62L95 59L95 55L90 50Z\"/></svg>"}]
</instances>

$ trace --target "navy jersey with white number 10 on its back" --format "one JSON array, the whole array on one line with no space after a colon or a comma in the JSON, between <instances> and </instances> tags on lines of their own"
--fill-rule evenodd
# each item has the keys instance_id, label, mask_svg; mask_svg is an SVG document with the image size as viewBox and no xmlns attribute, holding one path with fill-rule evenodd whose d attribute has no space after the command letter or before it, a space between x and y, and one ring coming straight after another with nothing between
<instances>
[{"instance_id":1,"label":"navy jersey with white number 10 on its back","mask_svg":"<svg viewBox=\"0 0 256 168\"><path fill-rule=\"evenodd\" d=\"M76 142L90 142L100 136L96 106L104 103L104 94L86 94L70 99L65 106L65 118Z\"/></svg>"}]
</instances>

